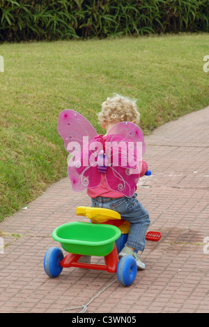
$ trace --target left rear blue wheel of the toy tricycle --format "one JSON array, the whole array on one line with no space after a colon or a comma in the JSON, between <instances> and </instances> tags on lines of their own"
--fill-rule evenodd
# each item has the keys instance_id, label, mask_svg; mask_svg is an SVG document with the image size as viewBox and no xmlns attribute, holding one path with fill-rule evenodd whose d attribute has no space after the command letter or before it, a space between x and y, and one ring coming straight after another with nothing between
<instances>
[{"instance_id":1,"label":"left rear blue wheel of the toy tricycle","mask_svg":"<svg viewBox=\"0 0 209 327\"><path fill-rule=\"evenodd\" d=\"M57 277L61 274L63 267L59 262L63 260L63 252L59 247L50 247L45 254L44 268L49 277Z\"/></svg>"}]
</instances>

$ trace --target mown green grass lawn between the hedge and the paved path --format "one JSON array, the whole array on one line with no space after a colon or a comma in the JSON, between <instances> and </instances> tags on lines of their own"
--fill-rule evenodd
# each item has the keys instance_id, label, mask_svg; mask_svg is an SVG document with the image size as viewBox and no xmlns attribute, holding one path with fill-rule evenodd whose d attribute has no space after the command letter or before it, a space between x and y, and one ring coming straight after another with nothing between
<instances>
[{"instance_id":1,"label":"mown green grass lawn between the hedge and the paved path","mask_svg":"<svg viewBox=\"0 0 209 327\"><path fill-rule=\"evenodd\" d=\"M67 175L59 112L96 112L114 92L137 98L141 128L209 104L209 34L0 45L0 220ZM70 187L70 184L69 184Z\"/></svg>"}]
</instances>

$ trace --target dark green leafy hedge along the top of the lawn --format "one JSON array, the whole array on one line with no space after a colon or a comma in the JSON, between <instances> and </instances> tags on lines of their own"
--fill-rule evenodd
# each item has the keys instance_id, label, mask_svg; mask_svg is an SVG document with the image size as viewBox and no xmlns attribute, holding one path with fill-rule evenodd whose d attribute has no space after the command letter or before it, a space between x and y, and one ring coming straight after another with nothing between
<instances>
[{"instance_id":1,"label":"dark green leafy hedge along the top of the lawn","mask_svg":"<svg viewBox=\"0 0 209 327\"><path fill-rule=\"evenodd\" d=\"M0 0L0 41L209 31L209 0Z\"/></svg>"}]
</instances>

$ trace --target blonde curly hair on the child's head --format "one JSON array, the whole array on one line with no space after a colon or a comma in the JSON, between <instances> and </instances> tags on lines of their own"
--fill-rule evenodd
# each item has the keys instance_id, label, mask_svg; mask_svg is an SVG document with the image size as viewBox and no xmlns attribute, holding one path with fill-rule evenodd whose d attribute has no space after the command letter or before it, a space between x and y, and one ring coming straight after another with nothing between
<instances>
[{"instance_id":1,"label":"blonde curly hair on the child's head","mask_svg":"<svg viewBox=\"0 0 209 327\"><path fill-rule=\"evenodd\" d=\"M107 98L102 103L102 110L98 113L98 119L101 124L113 122L134 122L139 124L140 114L136 100L114 94L112 98Z\"/></svg>"}]
</instances>

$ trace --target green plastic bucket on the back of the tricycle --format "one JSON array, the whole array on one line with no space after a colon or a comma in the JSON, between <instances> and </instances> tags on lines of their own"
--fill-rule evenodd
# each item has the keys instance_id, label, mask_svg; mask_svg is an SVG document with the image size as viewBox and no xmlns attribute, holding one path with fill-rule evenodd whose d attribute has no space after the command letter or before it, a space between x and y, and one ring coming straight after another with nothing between
<instances>
[{"instance_id":1,"label":"green plastic bucket on the back of the tricycle","mask_svg":"<svg viewBox=\"0 0 209 327\"><path fill-rule=\"evenodd\" d=\"M52 232L52 238L60 242L66 252L87 256L107 256L120 236L116 226L81 221L63 224Z\"/></svg>"}]
</instances>

